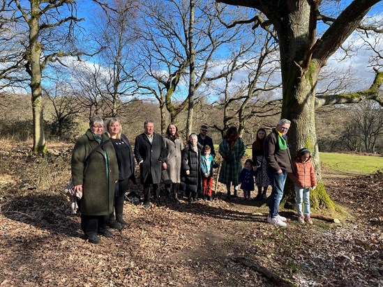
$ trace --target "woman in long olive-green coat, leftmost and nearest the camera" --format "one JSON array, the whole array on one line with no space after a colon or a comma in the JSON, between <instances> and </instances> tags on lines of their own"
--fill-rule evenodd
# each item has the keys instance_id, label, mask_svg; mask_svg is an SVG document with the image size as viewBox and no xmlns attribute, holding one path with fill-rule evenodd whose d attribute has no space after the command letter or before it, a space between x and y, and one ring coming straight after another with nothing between
<instances>
[{"instance_id":1,"label":"woman in long olive-green coat, leftmost and nearest the camera","mask_svg":"<svg viewBox=\"0 0 383 287\"><path fill-rule=\"evenodd\" d=\"M97 233L112 238L106 220L113 210L114 185L119 168L114 147L104 134L104 121L93 116L89 130L77 140L72 153L73 189L80 199L81 228L91 243L99 243Z\"/></svg>"}]
</instances>

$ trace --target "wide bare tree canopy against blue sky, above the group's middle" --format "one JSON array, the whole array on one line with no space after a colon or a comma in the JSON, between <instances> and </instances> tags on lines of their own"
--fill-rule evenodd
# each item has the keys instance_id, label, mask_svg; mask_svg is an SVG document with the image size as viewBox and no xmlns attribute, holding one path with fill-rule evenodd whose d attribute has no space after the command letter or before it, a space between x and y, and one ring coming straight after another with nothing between
<instances>
[{"instance_id":1,"label":"wide bare tree canopy against blue sky, above the group's middle","mask_svg":"<svg viewBox=\"0 0 383 287\"><path fill-rule=\"evenodd\" d=\"M236 19L232 9L204 1L148 0L144 1L143 13L147 17L142 17L140 25L140 65L156 85L143 84L149 82L146 78L141 86L156 96L160 107L166 107L171 122L177 121L186 107L192 110L193 103L200 95L206 95L212 82L245 69L249 59L253 59L256 41L252 29L222 29L221 19ZM194 78L192 83L190 77ZM191 130L190 124L188 129Z\"/></svg>"}]
</instances>

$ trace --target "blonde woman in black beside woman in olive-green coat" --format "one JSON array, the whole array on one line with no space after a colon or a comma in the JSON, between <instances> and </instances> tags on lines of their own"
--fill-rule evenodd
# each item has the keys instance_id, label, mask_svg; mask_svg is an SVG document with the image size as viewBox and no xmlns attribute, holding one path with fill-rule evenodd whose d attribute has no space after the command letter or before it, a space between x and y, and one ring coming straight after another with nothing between
<instances>
[{"instance_id":1,"label":"blonde woman in black beside woman in olive-green coat","mask_svg":"<svg viewBox=\"0 0 383 287\"><path fill-rule=\"evenodd\" d=\"M110 118L107 122L107 131L114 150L116 150L119 164L119 181L116 183L116 189L114 189L114 211L110 214L107 224L112 228L121 230L122 225L129 225L122 217L123 201L125 193L129 189L129 180L136 184L135 157L132 146L130 146L126 135L122 133L121 124L117 118ZM114 212L116 212L116 215L114 215Z\"/></svg>"}]
</instances>

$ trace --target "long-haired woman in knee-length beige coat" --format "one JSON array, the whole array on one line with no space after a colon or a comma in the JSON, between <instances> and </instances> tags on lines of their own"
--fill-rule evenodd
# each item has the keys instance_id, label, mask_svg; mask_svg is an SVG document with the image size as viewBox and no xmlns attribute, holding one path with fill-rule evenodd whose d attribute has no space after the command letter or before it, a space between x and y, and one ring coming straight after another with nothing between
<instances>
[{"instance_id":1,"label":"long-haired woman in knee-length beige coat","mask_svg":"<svg viewBox=\"0 0 383 287\"><path fill-rule=\"evenodd\" d=\"M177 190L181 183L181 151L183 150L182 139L179 138L177 125L170 124L164 137L167 157L166 168L162 171L162 182L165 183L167 198L179 202Z\"/></svg>"}]
</instances>

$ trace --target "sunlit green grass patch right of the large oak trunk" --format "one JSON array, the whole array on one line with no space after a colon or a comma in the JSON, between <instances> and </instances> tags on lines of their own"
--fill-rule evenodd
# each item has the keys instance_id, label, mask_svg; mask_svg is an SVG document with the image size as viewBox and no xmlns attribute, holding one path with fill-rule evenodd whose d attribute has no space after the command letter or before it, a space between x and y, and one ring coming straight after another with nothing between
<instances>
[{"instance_id":1,"label":"sunlit green grass patch right of the large oak trunk","mask_svg":"<svg viewBox=\"0 0 383 287\"><path fill-rule=\"evenodd\" d=\"M383 170L383 157L320 153L320 161L333 171L368 174Z\"/></svg>"}]
</instances>

